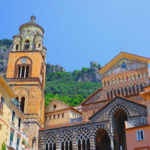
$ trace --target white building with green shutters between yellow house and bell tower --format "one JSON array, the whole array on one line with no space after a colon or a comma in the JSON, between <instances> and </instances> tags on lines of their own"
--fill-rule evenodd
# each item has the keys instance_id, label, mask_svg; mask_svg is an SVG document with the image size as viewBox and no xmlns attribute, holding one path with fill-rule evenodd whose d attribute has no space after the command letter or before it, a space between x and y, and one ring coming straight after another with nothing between
<instances>
[{"instance_id":1,"label":"white building with green shutters between yellow house and bell tower","mask_svg":"<svg viewBox=\"0 0 150 150\"><path fill-rule=\"evenodd\" d=\"M20 105L17 99L12 99L11 118L9 123L10 134L8 138L9 150L26 149L26 147L28 146L28 137L23 132L24 119L24 114L20 110Z\"/></svg>"}]
</instances>

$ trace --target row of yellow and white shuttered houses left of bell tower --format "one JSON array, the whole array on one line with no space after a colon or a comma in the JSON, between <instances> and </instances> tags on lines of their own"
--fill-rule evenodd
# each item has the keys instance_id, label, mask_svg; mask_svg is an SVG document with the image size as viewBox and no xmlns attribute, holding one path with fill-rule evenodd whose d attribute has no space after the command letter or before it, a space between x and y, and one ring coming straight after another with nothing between
<instances>
[{"instance_id":1,"label":"row of yellow and white shuttered houses left of bell tower","mask_svg":"<svg viewBox=\"0 0 150 150\"><path fill-rule=\"evenodd\" d=\"M10 150L28 145L28 138L22 131L24 114L14 97L12 89L0 76L0 149L4 143Z\"/></svg>"}]
</instances>

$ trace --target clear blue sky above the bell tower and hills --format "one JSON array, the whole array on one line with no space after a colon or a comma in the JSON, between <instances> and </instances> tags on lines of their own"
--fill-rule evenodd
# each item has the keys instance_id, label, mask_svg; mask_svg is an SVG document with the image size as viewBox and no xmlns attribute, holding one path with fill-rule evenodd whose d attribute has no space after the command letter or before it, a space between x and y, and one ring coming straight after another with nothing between
<instances>
[{"instance_id":1,"label":"clear blue sky above the bell tower and hills","mask_svg":"<svg viewBox=\"0 0 150 150\"><path fill-rule=\"evenodd\" d=\"M12 39L34 14L47 63L67 71L104 66L120 51L150 57L150 0L2 0L0 14L0 39Z\"/></svg>"}]
</instances>

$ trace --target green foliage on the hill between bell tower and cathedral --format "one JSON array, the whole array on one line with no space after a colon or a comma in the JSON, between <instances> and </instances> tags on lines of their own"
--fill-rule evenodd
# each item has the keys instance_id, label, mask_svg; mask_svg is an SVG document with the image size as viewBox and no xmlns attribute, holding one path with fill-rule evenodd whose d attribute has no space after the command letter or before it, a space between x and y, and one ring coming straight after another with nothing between
<instances>
[{"instance_id":1,"label":"green foliage on the hill between bell tower and cathedral","mask_svg":"<svg viewBox=\"0 0 150 150\"><path fill-rule=\"evenodd\" d=\"M58 99L71 106L79 105L84 99L101 87L100 82L77 82L79 75L89 68L73 72L51 72L46 75L45 98L47 105L51 100Z\"/></svg>"}]
</instances>

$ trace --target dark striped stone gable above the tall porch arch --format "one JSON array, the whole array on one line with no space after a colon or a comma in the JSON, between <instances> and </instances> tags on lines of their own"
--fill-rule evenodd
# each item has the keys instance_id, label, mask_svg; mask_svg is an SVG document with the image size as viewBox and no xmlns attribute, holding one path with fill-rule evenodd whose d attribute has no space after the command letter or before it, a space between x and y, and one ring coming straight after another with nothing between
<instances>
[{"instance_id":1,"label":"dark striped stone gable above the tall porch arch","mask_svg":"<svg viewBox=\"0 0 150 150\"><path fill-rule=\"evenodd\" d=\"M127 98L117 96L102 109L89 118L90 122L109 121L111 114L117 109L123 109L128 117L136 117L147 114L145 105L133 102Z\"/></svg>"}]
</instances>

